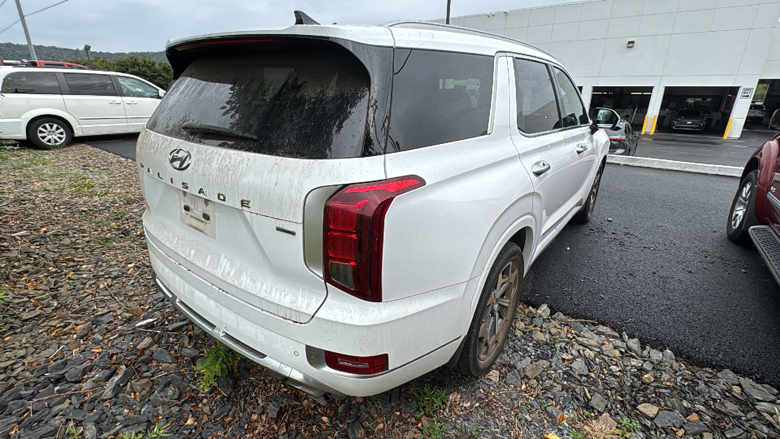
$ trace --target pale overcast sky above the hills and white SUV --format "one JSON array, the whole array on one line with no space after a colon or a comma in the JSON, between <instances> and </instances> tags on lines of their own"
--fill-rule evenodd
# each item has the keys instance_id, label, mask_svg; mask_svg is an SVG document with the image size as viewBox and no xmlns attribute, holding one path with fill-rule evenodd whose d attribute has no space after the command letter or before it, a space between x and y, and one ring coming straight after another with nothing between
<instances>
[{"instance_id":1,"label":"pale overcast sky above the hills and white SUV","mask_svg":"<svg viewBox=\"0 0 780 439\"><path fill-rule=\"evenodd\" d=\"M21 0L24 13L60 0ZM566 0L452 0L452 16L521 9ZM2 0L0 0L2 2ZM382 24L393 20L435 20L446 15L446 0L68 0L27 17L35 45L100 52L147 52L165 41L224 30L280 27L294 23L293 10L320 23ZM0 7L0 30L19 18L16 0ZM0 41L26 44L20 23Z\"/></svg>"}]
</instances>

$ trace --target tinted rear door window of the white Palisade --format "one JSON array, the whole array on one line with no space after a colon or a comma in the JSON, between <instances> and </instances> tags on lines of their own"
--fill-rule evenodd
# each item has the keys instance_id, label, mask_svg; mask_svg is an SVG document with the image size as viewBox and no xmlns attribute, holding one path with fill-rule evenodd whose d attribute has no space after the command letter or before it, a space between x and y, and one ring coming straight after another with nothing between
<instances>
[{"instance_id":1,"label":"tinted rear door window of the white Palisade","mask_svg":"<svg viewBox=\"0 0 780 439\"><path fill-rule=\"evenodd\" d=\"M555 91L545 64L516 58L515 85L520 131L537 134L561 127Z\"/></svg>"}]
</instances>

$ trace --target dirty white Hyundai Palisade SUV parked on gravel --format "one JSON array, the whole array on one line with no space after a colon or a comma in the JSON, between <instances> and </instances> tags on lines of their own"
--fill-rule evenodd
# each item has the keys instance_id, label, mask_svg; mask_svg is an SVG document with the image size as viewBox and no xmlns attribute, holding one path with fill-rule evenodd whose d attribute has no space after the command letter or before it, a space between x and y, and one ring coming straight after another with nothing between
<instances>
[{"instance_id":1,"label":"dirty white Hyundai Palisade SUV parked on gravel","mask_svg":"<svg viewBox=\"0 0 780 439\"><path fill-rule=\"evenodd\" d=\"M136 152L155 280L312 394L485 373L524 273L593 210L609 139L519 41L296 25L167 54L176 82Z\"/></svg>"}]
</instances>

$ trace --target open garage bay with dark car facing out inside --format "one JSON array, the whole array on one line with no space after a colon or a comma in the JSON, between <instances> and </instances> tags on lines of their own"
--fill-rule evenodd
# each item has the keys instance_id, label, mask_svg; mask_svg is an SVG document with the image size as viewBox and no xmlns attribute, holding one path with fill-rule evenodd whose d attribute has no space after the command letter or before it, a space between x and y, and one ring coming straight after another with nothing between
<instances>
[{"instance_id":1,"label":"open garage bay with dark car facing out inside","mask_svg":"<svg viewBox=\"0 0 780 439\"><path fill-rule=\"evenodd\" d=\"M665 87L656 130L723 137L738 93L739 87Z\"/></svg>"}]
</instances>

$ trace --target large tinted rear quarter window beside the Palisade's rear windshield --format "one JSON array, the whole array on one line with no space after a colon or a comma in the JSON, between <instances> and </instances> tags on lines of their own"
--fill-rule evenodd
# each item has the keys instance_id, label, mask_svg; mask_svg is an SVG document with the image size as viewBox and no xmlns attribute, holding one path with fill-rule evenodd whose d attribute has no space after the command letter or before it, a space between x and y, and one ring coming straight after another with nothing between
<instances>
[{"instance_id":1,"label":"large tinted rear quarter window beside the Palisade's rear windshield","mask_svg":"<svg viewBox=\"0 0 780 439\"><path fill-rule=\"evenodd\" d=\"M395 50L388 152L488 134L493 57Z\"/></svg>"}]
</instances>

